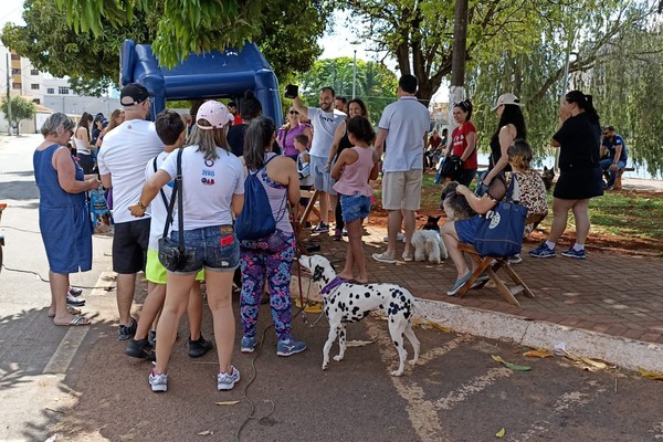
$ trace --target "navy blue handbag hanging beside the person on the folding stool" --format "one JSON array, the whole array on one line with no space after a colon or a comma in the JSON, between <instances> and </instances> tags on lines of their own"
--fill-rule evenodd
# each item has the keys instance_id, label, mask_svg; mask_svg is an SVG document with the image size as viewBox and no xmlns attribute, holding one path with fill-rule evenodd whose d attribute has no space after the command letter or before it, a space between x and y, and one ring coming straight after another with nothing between
<instances>
[{"instance_id":1,"label":"navy blue handbag hanging beside the person on the folding stool","mask_svg":"<svg viewBox=\"0 0 663 442\"><path fill-rule=\"evenodd\" d=\"M501 257L520 253L527 207L513 201L515 181L513 175L504 200L483 217L476 231L474 249L483 256Z\"/></svg>"}]
</instances>

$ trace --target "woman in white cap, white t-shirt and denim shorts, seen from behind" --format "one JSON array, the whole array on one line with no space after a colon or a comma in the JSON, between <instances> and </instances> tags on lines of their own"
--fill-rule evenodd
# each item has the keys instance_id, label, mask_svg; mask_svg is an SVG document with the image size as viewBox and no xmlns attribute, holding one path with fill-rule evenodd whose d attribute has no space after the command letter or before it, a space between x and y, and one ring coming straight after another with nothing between
<instances>
[{"instance_id":1,"label":"woman in white cap, white t-shirt and denim shorts, seen from behind","mask_svg":"<svg viewBox=\"0 0 663 442\"><path fill-rule=\"evenodd\" d=\"M232 114L215 101L203 103L196 115L196 130L189 137L190 146L181 154L185 246L193 255L185 269L168 272L166 301L157 326L157 362L149 375L152 391L168 387L168 359L175 344L177 328L187 311L189 292L196 274L204 267L208 304L212 312L214 338L220 370L217 388L230 390L240 380L231 357L234 346L235 323L232 311L232 276L240 263L240 244L232 227L232 215L244 204L244 169L238 157L230 152L225 135ZM129 207L131 214L141 217L159 189L177 176L177 152L173 151L161 168L145 183L140 199ZM170 238L178 242L178 215L172 221Z\"/></svg>"}]
</instances>

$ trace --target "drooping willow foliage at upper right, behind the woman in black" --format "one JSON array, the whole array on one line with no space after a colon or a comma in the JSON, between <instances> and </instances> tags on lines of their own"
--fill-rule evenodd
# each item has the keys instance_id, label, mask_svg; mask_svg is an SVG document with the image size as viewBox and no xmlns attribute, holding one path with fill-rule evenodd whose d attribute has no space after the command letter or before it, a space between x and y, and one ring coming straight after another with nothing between
<instances>
[{"instance_id":1,"label":"drooping willow foliage at upper right, behind the woman in black","mask_svg":"<svg viewBox=\"0 0 663 442\"><path fill-rule=\"evenodd\" d=\"M540 17L535 23L538 36L518 51L504 49L471 61L467 94L475 105L480 143L485 146L497 129L490 112L493 103L512 92L525 104L530 144L537 152L546 152L570 49L567 90L591 94L601 123L627 137L631 158L646 159L654 176L663 170L663 146L656 141L663 128L656 118L663 112L663 94L655 80L662 73L663 38L655 13L649 1L580 2L568 6L559 20Z\"/></svg>"}]
</instances>

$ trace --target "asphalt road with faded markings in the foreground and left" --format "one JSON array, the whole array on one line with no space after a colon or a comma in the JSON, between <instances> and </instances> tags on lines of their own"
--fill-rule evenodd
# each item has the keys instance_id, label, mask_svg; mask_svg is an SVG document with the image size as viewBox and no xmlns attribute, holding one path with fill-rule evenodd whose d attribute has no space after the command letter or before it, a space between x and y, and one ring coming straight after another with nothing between
<instances>
[{"instance_id":1,"label":"asphalt road with faded markings in the foreground and left","mask_svg":"<svg viewBox=\"0 0 663 442\"><path fill-rule=\"evenodd\" d=\"M10 203L0 230L8 236L6 265L45 277L31 175L38 143L0 143L0 200ZM98 287L85 292L91 327L53 326L46 283L31 273L0 274L2 441L491 441L502 429L505 441L663 439L663 385L632 372L525 358L527 349L511 343L417 327L420 361L393 378L396 350L386 322L376 317L348 327L349 340L370 344L348 348L344 361L322 371L326 319L311 327L317 315L309 314L308 324L297 316L295 336L309 348L278 358L265 307L259 351L236 349L242 380L232 391L215 389L214 352L188 358L183 320L169 390L152 393L149 364L126 357L117 341L115 292L103 288L114 284L110 240L95 238L94 246L94 271L74 278ZM207 309L203 334L212 337ZM532 369L512 370L492 355Z\"/></svg>"}]
</instances>

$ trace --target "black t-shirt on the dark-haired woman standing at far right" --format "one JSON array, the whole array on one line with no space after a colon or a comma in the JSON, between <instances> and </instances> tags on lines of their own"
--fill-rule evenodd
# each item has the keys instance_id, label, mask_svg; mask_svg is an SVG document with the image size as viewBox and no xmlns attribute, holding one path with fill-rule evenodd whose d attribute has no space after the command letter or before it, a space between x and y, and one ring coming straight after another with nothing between
<instances>
[{"instance_id":1,"label":"black t-shirt on the dark-haired woman standing at far right","mask_svg":"<svg viewBox=\"0 0 663 442\"><path fill-rule=\"evenodd\" d=\"M599 166L601 128L586 113L568 118L552 135L559 148L559 169L579 170Z\"/></svg>"}]
</instances>

